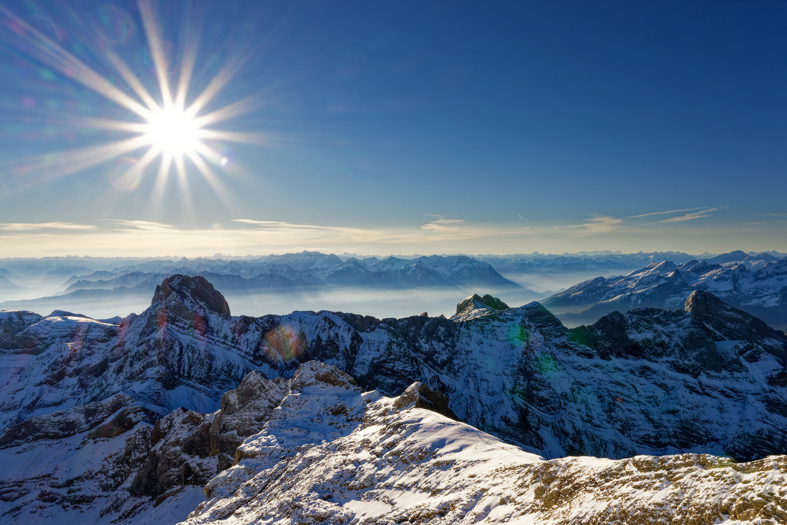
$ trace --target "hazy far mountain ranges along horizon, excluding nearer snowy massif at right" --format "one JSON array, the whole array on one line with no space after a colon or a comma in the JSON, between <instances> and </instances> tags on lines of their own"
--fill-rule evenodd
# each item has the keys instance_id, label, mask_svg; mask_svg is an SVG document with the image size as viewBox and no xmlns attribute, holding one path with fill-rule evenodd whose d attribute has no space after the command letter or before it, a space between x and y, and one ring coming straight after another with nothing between
<instances>
[{"instance_id":1,"label":"hazy far mountain ranges along horizon, excluding nearer snowy massif at right","mask_svg":"<svg viewBox=\"0 0 787 525\"><path fill-rule=\"evenodd\" d=\"M710 254L706 254L710 255ZM31 299L40 294L72 294L102 298L89 290L150 294L168 275L202 275L225 294L253 290L291 290L324 287L387 289L481 287L504 289L518 285L503 275L626 273L663 261L678 264L699 259L708 264L745 265L778 261L784 254L741 251L715 257L685 253L582 253L547 255L450 255L429 257L342 257L333 253L301 252L264 257L198 257L151 259L133 257L47 257L0 260L0 292L6 299ZM593 275L595 276L595 275ZM530 282L519 279L520 284ZM554 279L552 279L554 280ZM552 281L550 281L552 282ZM560 280L560 282L563 282ZM576 281L571 281L575 283ZM535 290L536 293L543 289ZM36 295L39 294L39 295Z\"/></svg>"}]
</instances>

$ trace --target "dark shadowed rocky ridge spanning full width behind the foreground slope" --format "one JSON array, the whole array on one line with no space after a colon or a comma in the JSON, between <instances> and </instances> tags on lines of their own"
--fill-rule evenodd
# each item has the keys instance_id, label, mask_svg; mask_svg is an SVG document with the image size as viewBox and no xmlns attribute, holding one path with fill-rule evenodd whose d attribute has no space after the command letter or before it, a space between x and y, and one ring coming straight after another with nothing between
<instances>
[{"instance_id":1,"label":"dark shadowed rocky ridge spanning full width behind the foreground slope","mask_svg":"<svg viewBox=\"0 0 787 525\"><path fill-rule=\"evenodd\" d=\"M784 335L711 294L694 297L692 311L613 312L571 330L538 303L497 309L506 305L489 297L460 303L453 320L250 318L231 317L205 279L173 276L150 309L119 324L10 316L31 324L3 350L0 421L119 393L161 416L179 406L212 412L249 372L290 377L320 360L387 395L420 381L446 394L460 420L546 457L778 453ZM711 305L701 319L696 297Z\"/></svg>"}]
</instances>

